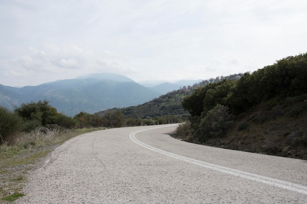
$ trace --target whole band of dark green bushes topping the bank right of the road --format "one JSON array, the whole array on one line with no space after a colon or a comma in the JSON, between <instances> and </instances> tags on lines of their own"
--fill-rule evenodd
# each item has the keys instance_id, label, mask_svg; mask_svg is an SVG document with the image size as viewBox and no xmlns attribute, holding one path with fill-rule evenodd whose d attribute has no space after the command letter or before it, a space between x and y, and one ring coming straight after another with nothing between
<instances>
[{"instance_id":1,"label":"whole band of dark green bushes topping the bank right of the road","mask_svg":"<svg viewBox=\"0 0 307 204\"><path fill-rule=\"evenodd\" d=\"M224 136L231 115L249 111L260 103L307 93L307 54L283 58L274 65L244 73L239 80L205 84L184 98L182 106L190 116L186 124L199 142ZM181 127L182 129L182 127Z\"/></svg>"}]
</instances>

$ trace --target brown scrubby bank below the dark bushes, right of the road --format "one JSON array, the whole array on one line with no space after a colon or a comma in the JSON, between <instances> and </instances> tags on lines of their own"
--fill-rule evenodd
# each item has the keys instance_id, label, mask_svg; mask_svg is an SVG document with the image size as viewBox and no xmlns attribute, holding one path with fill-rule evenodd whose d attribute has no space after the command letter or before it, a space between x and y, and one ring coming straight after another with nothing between
<instances>
[{"instance_id":1,"label":"brown scrubby bank below the dark bushes, right of the road","mask_svg":"<svg viewBox=\"0 0 307 204\"><path fill-rule=\"evenodd\" d=\"M200 142L208 146L307 160L307 94L263 102L250 111L232 115L225 136Z\"/></svg>"}]
</instances>

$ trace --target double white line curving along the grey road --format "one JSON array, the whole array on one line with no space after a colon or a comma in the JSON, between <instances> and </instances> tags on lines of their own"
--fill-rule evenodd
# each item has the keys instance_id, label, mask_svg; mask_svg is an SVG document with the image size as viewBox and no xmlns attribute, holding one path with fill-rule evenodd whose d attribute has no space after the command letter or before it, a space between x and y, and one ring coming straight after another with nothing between
<instances>
[{"instance_id":1,"label":"double white line curving along the grey road","mask_svg":"<svg viewBox=\"0 0 307 204\"><path fill-rule=\"evenodd\" d=\"M171 125L171 126L176 126L176 125ZM170 127L170 126L167 126L167 127ZM227 174L231 174L231 175L234 175L234 176L242 177L242 178L253 180L253 181L258 181L258 182L274 185L274 186L277 186L277 187L280 187L280 188L285 188L285 189L288 189L288 190L296 191L298 193L303 193L303 194L307 195L307 186L304 186L304 185L291 183L291 182L287 182L287 181L281 181L281 180L278 180L278 179L272 179L272 178L269 178L269 177L264 177L264 176L252 174L252 173L249 173L249 172L231 169L231 168L228 168L228 167L225 167L225 166L220 166L220 165L208 163L208 162L197 160L197 159L183 157L183 156L173 154L171 152L167 152L167 151L155 148L153 146L147 145L147 144L145 144L145 143L143 143L143 142L141 142L141 141L139 141L138 139L135 138L135 134L137 134L139 132L157 129L157 128L165 128L165 126L159 126L159 127L154 127L154 128L148 128L148 129L145 129L145 130L135 131L135 132L131 133L129 135L129 137L133 142L135 142L135 143L137 143L137 144L139 144L139 145L141 145L141 146L143 146L147 149L150 149L154 152L160 153L162 155L166 155L166 156L174 158L174 159L179 159L179 160L186 161L186 162L189 162L189 163L192 163L192 164L203 166L205 168L213 169L213 170L216 170L216 171L224 172L224 173L227 173Z\"/></svg>"}]
</instances>

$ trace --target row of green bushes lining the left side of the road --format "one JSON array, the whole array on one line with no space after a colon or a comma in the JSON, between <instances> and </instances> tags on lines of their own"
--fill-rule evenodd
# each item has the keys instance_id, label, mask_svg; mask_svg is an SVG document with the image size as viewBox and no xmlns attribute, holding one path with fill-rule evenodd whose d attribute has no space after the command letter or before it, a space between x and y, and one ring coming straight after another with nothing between
<instances>
[{"instance_id":1,"label":"row of green bushes lining the left side of the road","mask_svg":"<svg viewBox=\"0 0 307 204\"><path fill-rule=\"evenodd\" d=\"M40 129L76 129L123 126L157 125L182 122L175 115L156 116L153 118L126 118L118 109L100 113L77 113L74 117L58 113L49 101L30 102L15 107L13 111L0 106L0 144L9 142L21 132ZM43 128L44 127L44 128Z\"/></svg>"}]
</instances>

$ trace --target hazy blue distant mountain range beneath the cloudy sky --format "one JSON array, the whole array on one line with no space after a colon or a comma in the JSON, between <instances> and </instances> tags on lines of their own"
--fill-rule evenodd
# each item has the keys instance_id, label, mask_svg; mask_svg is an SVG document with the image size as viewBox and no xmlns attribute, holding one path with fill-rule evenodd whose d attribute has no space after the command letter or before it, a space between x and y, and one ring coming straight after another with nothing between
<instances>
[{"instance_id":1,"label":"hazy blue distant mountain range beneath the cloudy sky","mask_svg":"<svg viewBox=\"0 0 307 204\"><path fill-rule=\"evenodd\" d=\"M149 88L124 75L91 74L22 88L0 85L0 106L13 110L22 103L48 100L59 113L74 116L81 111L97 113L139 105L185 85L163 83Z\"/></svg>"}]
</instances>

